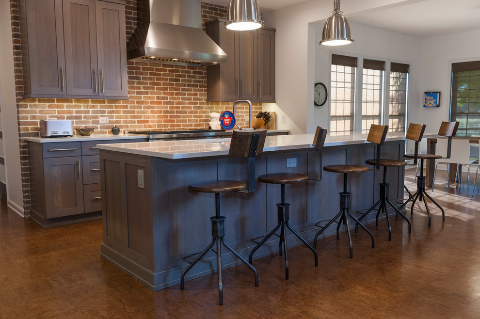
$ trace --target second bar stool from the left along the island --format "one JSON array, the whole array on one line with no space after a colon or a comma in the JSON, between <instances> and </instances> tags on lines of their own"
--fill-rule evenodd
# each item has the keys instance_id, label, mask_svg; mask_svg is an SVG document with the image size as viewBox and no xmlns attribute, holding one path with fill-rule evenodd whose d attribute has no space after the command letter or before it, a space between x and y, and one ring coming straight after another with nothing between
<instances>
[{"instance_id":1,"label":"second bar stool from the left along the island","mask_svg":"<svg viewBox=\"0 0 480 319\"><path fill-rule=\"evenodd\" d=\"M323 143L325 142L327 130L325 128L317 128L317 132L315 133L313 145L316 150L321 151L323 147ZM318 266L318 254L313 249L310 244L306 242L305 239L300 236L288 223L290 219L289 215L289 208L290 204L285 202L285 185L286 184L296 184L296 183L303 183L308 180L308 175L299 174L299 173L269 173L265 175L258 176L258 181L266 184L280 184L281 185L281 203L277 204L277 219L278 224L275 228L272 229L270 233L268 233L257 245L252 249L250 255L248 257L248 261L252 263L253 254L256 252L260 246L262 246L273 234L280 228L280 241L279 241L279 254L282 255L282 244L283 250L285 250L285 279L288 279L288 250L287 250L287 228L298 238L300 241L304 243L304 245L310 249L315 257L315 267ZM253 240L254 242L255 239Z\"/></svg>"}]
</instances>

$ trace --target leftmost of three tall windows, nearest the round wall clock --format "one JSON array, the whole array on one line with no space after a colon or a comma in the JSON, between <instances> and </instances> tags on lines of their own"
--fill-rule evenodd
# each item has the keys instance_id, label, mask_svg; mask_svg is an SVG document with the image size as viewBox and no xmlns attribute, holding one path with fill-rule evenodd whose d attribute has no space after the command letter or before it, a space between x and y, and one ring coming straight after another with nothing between
<instances>
[{"instance_id":1,"label":"leftmost of three tall windows, nearest the round wall clock","mask_svg":"<svg viewBox=\"0 0 480 319\"><path fill-rule=\"evenodd\" d=\"M332 54L330 133L353 131L357 59Z\"/></svg>"}]
</instances>

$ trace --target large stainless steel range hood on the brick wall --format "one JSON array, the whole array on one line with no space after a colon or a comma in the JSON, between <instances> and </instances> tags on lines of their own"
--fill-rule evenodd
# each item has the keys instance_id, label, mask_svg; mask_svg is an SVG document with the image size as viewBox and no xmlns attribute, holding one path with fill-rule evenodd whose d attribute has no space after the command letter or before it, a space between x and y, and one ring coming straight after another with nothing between
<instances>
[{"instance_id":1,"label":"large stainless steel range hood on the brick wall","mask_svg":"<svg viewBox=\"0 0 480 319\"><path fill-rule=\"evenodd\" d=\"M128 60L192 66L226 61L226 53L201 29L201 0L138 0L137 7Z\"/></svg>"}]
</instances>

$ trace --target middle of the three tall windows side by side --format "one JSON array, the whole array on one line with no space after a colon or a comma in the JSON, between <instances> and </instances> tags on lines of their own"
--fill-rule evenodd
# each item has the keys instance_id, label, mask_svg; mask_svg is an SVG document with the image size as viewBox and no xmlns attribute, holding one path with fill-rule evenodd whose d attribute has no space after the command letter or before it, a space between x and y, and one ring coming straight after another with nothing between
<instances>
[{"instance_id":1,"label":"middle of the three tall windows side by side","mask_svg":"<svg viewBox=\"0 0 480 319\"><path fill-rule=\"evenodd\" d=\"M383 61L363 60L362 80L362 132L366 133L372 124L382 124L384 111Z\"/></svg>"}]
</instances>

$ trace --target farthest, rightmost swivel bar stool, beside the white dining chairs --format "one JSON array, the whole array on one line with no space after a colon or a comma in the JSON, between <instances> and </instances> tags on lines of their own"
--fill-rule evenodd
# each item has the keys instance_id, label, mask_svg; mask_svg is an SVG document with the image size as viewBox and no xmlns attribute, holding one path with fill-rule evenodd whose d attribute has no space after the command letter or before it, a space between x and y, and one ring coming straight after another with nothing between
<instances>
[{"instance_id":1,"label":"farthest, rightmost swivel bar stool, beside the white dining chairs","mask_svg":"<svg viewBox=\"0 0 480 319\"><path fill-rule=\"evenodd\" d=\"M450 158L450 150L451 150L451 143L452 143L452 136L455 136L456 129L458 128L458 123L459 122L442 122L440 125L440 129L438 130L438 135L440 136L445 136L448 137L448 144L447 144L447 156L442 157L441 155L437 154L418 154L417 158L420 159L420 175L417 176L417 189L416 192L408 198L408 200L403 203L399 209L401 210L405 205L407 205L408 202L412 201L412 206L410 207L410 215L413 215L413 207L415 205L416 200L418 199L420 202L423 201L425 204L425 209L427 210L427 215L428 215L428 226L430 227L431 224L431 215L430 215L430 209L428 208L427 202L425 201L425 196L432 201L433 204L435 204L436 207L440 208L442 211L442 220L445 221L445 210L437 203L435 200L433 200L432 196L430 196L426 191L425 191L425 186L426 186L426 176L423 175L423 160L424 159L449 159ZM414 155L411 154L406 154L405 158L407 159L412 159L414 158Z\"/></svg>"}]
</instances>

